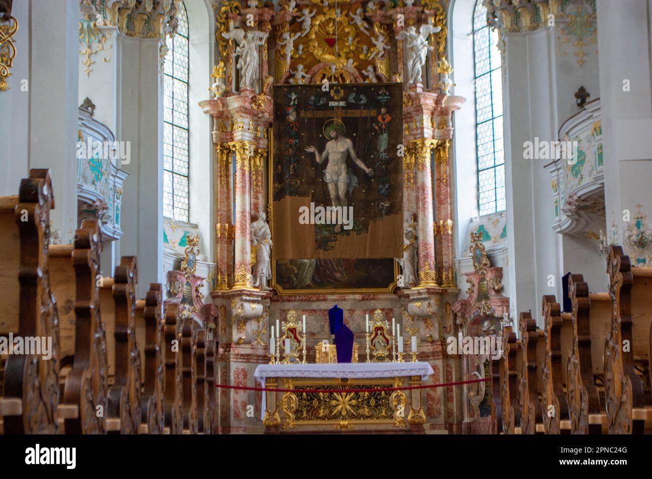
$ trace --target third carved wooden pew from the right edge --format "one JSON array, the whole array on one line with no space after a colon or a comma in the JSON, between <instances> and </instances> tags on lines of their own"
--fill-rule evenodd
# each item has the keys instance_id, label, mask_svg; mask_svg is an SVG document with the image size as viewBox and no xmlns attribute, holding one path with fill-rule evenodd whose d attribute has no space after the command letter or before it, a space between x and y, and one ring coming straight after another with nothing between
<instances>
[{"instance_id":1,"label":"third carved wooden pew from the right edge","mask_svg":"<svg viewBox=\"0 0 652 479\"><path fill-rule=\"evenodd\" d=\"M554 295L545 295L542 301L546 355L541 370L542 418L546 434L571 432L569 405L564 394L561 354L561 308Z\"/></svg>"}]
</instances>

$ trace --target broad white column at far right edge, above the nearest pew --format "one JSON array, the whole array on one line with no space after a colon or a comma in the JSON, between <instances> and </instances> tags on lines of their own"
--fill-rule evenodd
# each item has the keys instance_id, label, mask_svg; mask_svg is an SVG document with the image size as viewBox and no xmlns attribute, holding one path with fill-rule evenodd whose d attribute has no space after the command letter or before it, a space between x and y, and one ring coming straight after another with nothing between
<instances>
[{"instance_id":1,"label":"broad white column at far right edge, above the nearest pew","mask_svg":"<svg viewBox=\"0 0 652 479\"><path fill-rule=\"evenodd\" d=\"M623 244L623 210L652 222L652 0L598 0L597 16L607 227Z\"/></svg>"}]
</instances>

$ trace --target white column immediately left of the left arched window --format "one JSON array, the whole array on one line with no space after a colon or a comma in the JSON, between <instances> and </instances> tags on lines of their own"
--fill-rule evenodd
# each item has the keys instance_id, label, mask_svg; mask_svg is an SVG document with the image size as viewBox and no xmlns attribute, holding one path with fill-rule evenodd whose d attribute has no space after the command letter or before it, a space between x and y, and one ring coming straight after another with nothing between
<instances>
[{"instance_id":1,"label":"white column immediately left of the left arched window","mask_svg":"<svg viewBox=\"0 0 652 479\"><path fill-rule=\"evenodd\" d=\"M131 143L119 254L138 257L138 296L164 283L163 98L159 40L120 36L115 136Z\"/></svg>"}]
</instances>

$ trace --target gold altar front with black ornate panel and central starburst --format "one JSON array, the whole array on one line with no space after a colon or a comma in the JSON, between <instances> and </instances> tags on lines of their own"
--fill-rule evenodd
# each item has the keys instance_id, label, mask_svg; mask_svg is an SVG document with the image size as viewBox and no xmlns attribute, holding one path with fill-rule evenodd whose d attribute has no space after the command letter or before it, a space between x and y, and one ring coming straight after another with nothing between
<instances>
[{"instance_id":1,"label":"gold altar front with black ornate panel and central starburst","mask_svg":"<svg viewBox=\"0 0 652 479\"><path fill-rule=\"evenodd\" d=\"M266 388L310 392L265 391L265 433L423 433L426 416L421 389L355 390L421 386L421 376L365 379L268 377ZM351 392L319 392L319 390Z\"/></svg>"}]
</instances>

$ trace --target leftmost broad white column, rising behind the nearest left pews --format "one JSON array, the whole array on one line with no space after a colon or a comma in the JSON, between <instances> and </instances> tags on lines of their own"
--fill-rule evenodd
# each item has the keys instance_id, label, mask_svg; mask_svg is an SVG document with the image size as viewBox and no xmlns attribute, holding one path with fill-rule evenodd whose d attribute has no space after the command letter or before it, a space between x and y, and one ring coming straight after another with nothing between
<instances>
[{"instance_id":1,"label":"leftmost broad white column, rising behind the nearest left pews","mask_svg":"<svg viewBox=\"0 0 652 479\"><path fill-rule=\"evenodd\" d=\"M79 2L32 1L30 12L23 25L31 35L29 49L22 48L29 55L29 167L52 170L55 209L50 220L58 241L69 243L78 226Z\"/></svg>"}]
</instances>

